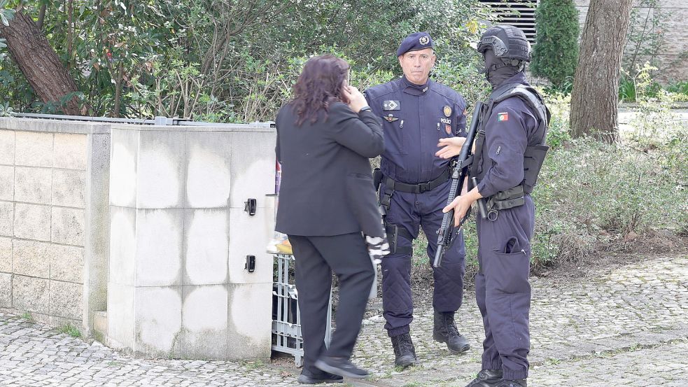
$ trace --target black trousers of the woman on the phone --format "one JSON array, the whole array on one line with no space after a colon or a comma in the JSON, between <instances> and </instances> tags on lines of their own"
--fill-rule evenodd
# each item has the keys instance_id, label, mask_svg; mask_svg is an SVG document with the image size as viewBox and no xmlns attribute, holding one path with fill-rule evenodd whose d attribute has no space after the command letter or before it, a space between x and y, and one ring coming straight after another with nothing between
<instances>
[{"instance_id":1,"label":"black trousers of the woman on the phone","mask_svg":"<svg viewBox=\"0 0 688 387\"><path fill-rule=\"evenodd\" d=\"M314 367L320 356L351 357L375 272L360 232L331 237L289 235L289 241L296 265L303 367L307 374L320 374ZM327 316L332 272L339 279L339 303L335 314L337 329L327 349L325 328L330 323Z\"/></svg>"}]
</instances>

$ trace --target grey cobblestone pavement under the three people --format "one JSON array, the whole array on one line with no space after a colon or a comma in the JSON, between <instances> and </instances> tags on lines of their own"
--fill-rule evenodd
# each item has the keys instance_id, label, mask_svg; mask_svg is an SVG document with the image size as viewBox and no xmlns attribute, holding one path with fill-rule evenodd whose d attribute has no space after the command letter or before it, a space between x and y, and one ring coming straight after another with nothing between
<instances>
[{"instance_id":1,"label":"grey cobblestone pavement under the three people","mask_svg":"<svg viewBox=\"0 0 688 387\"><path fill-rule=\"evenodd\" d=\"M595 276L532 279L531 386L688 386L688 256L653 257ZM399 372L381 311L364 321L354 362L373 376L352 386L465 386L479 371L482 325L467 295L450 355L432 341L433 312L416 308L421 364ZM0 386L298 386L286 360L146 360L0 314Z\"/></svg>"}]
</instances>

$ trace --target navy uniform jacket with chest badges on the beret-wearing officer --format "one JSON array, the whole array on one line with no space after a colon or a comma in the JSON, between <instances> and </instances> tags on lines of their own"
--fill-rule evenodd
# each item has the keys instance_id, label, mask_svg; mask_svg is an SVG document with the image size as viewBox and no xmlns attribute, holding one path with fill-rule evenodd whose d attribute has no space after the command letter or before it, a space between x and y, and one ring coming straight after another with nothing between
<instances>
[{"instance_id":1,"label":"navy uniform jacket with chest badges on the beret-wearing officer","mask_svg":"<svg viewBox=\"0 0 688 387\"><path fill-rule=\"evenodd\" d=\"M371 87L365 97L383 120L386 148L380 163L382 173L409 184L442 175L449 160L435 156L437 142L466 134L466 103L461 94L433 80L414 85L402 77Z\"/></svg>"}]
</instances>

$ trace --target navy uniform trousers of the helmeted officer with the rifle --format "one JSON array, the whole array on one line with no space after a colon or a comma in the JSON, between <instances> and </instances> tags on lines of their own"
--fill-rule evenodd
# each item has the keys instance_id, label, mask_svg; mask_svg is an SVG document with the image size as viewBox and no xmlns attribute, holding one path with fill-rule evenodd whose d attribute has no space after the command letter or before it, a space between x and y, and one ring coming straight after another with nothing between
<instances>
[{"instance_id":1,"label":"navy uniform trousers of the helmeted officer with the rifle","mask_svg":"<svg viewBox=\"0 0 688 387\"><path fill-rule=\"evenodd\" d=\"M477 216L479 272L475 298L485 328L482 368L503 370L504 379L528 377L528 311L531 308L531 244L535 206L501 210L496 220Z\"/></svg>"}]
</instances>

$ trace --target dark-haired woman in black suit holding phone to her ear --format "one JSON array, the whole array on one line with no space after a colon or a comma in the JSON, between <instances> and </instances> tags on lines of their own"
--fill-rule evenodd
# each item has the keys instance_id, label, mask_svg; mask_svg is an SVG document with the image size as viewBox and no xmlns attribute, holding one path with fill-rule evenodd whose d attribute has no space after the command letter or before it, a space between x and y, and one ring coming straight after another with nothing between
<instances>
[{"instance_id":1,"label":"dark-haired woman in black suit holding phone to her ear","mask_svg":"<svg viewBox=\"0 0 688 387\"><path fill-rule=\"evenodd\" d=\"M384 239L369 160L384 151L384 140L348 73L349 64L337 57L309 59L293 100L276 118L282 180L275 228L288 235L295 255L302 384L367 376L349 358L375 276L364 234L368 241ZM339 279L339 305L328 349L332 272Z\"/></svg>"}]
</instances>

